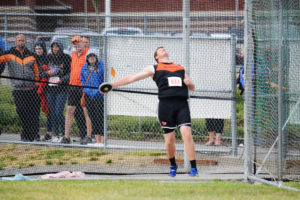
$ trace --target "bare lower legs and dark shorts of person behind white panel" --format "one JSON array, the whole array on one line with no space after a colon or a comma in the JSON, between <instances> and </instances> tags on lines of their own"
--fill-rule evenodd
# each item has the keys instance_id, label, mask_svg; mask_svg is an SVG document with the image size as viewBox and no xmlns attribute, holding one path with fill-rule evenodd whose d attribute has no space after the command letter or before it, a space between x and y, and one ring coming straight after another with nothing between
<instances>
[{"instance_id":1,"label":"bare lower legs and dark shorts of person behind white panel","mask_svg":"<svg viewBox=\"0 0 300 200\"><path fill-rule=\"evenodd\" d=\"M209 135L209 140L205 145L220 146L221 136L224 128L224 119L205 119L205 123ZM216 139L214 140L215 134L216 134Z\"/></svg>"}]
</instances>

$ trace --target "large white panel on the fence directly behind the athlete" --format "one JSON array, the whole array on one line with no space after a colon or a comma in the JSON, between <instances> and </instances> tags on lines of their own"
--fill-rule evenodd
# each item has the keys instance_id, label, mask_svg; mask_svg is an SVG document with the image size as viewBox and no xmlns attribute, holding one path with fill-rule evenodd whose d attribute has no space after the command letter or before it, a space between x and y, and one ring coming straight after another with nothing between
<instances>
[{"instance_id":1,"label":"large white panel on the fence directly behind the athlete","mask_svg":"<svg viewBox=\"0 0 300 200\"><path fill-rule=\"evenodd\" d=\"M153 54L158 46L164 46L170 59L183 63L183 46L180 38L153 37L109 37L107 40L107 66L114 67L116 77L136 73L147 65L156 64ZM201 91L230 91L231 56L230 39L192 38L190 42L190 69L186 69ZM155 82L148 78L122 88L147 88L157 92ZM153 90L152 90L153 89ZM211 92L191 92L190 95L208 96ZM224 96L225 95L225 96ZM218 95L229 97L230 94ZM108 114L157 116L157 96L111 92L108 95ZM219 100L191 99L192 118L230 118L231 102Z\"/></svg>"}]
</instances>

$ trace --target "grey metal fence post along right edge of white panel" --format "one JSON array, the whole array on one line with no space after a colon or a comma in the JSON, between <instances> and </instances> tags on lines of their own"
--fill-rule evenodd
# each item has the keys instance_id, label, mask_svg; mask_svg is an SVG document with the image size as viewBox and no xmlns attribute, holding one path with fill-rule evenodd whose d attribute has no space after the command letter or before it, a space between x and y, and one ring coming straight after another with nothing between
<instances>
[{"instance_id":1,"label":"grey metal fence post along right edge of white panel","mask_svg":"<svg viewBox=\"0 0 300 200\"><path fill-rule=\"evenodd\" d=\"M232 98L236 95L236 63L235 63L235 51L236 51L236 35L231 35L231 87ZM232 155L237 156L237 128L236 128L236 101L231 101L231 135L232 135Z\"/></svg>"}]
</instances>

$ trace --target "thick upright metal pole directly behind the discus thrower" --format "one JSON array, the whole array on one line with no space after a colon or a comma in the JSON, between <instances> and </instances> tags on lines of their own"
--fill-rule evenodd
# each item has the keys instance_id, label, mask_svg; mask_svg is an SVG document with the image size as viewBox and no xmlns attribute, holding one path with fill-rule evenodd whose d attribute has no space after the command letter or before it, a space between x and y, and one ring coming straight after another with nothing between
<instances>
[{"instance_id":1,"label":"thick upright metal pole directly behind the discus thrower","mask_svg":"<svg viewBox=\"0 0 300 200\"><path fill-rule=\"evenodd\" d=\"M187 73L190 71L190 0L182 1L182 30L183 30L183 64L187 69ZM185 149L185 148L184 148ZM187 154L184 150L184 171L190 170L190 162Z\"/></svg>"}]
</instances>

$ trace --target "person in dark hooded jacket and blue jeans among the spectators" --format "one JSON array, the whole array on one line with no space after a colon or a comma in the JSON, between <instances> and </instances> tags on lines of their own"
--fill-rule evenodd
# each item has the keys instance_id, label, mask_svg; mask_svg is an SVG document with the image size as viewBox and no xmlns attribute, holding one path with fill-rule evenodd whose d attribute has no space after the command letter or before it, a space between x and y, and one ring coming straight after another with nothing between
<instances>
[{"instance_id":1,"label":"person in dark hooded jacket and blue jeans among the spectators","mask_svg":"<svg viewBox=\"0 0 300 200\"><path fill-rule=\"evenodd\" d=\"M67 100L66 84L70 79L71 57L65 54L61 43L54 41L51 44L51 54L47 56L49 67L49 84L46 88L46 96L49 104L49 119L54 132L47 133L44 140L59 142L59 131L62 136L65 133L64 108ZM52 138L54 136L54 138Z\"/></svg>"}]
</instances>

